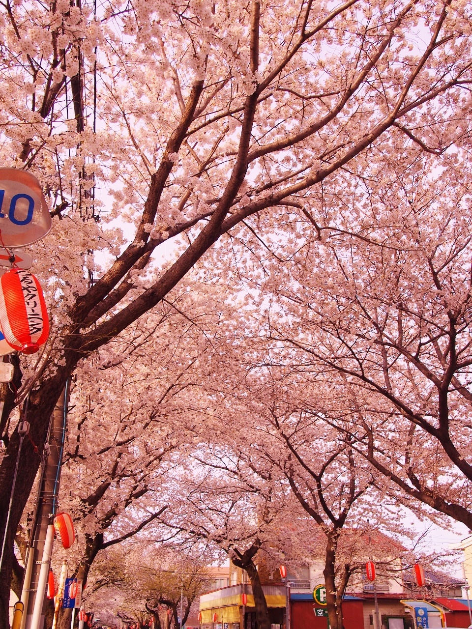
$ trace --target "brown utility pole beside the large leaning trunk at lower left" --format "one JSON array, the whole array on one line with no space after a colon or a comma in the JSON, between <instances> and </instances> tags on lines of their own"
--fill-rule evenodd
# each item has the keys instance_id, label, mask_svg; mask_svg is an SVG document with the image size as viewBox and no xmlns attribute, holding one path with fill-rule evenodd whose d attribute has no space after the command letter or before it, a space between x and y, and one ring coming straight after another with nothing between
<instances>
[{"instance_id":1,"label":"brown utility pole beside the large leaning trunk at lower left","mask_svg":"<svg viewBox=\"0 0 472 629\"><path fill-rule=\"evenodd\" d=\"M44 624L43 606L48 582L49 567L54 538L52 520L57 513L60 467L64 451L65 430L67 428L67 404L69 403L69 381L60 394L53 410L48 447L45 446L42 479L37 504L37 518L33 521L26 559L25 578L21 591L21 601L25 613L21 619L21 629L42 629Z\"/></svg>"}]
</instances>

